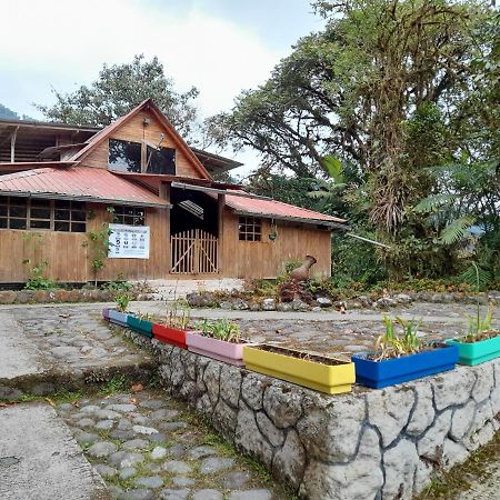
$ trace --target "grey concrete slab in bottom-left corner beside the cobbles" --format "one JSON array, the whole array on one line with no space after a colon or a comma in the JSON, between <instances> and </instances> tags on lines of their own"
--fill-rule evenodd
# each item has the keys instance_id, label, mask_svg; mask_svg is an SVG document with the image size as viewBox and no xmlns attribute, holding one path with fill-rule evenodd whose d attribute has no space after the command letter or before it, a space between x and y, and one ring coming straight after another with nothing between
<instances>
[{"instance_id":1,"label":"grey concrete slab in bottom-left corner beside the cobbles","mask_svg":"<svg viewBox=\"0 0 500 500\"><path fill-rule=\"evenodd\" d=\"M2 500L108 500L111 496L71 437L46 404L0 408Z\"/></svg>"}]
</instances>

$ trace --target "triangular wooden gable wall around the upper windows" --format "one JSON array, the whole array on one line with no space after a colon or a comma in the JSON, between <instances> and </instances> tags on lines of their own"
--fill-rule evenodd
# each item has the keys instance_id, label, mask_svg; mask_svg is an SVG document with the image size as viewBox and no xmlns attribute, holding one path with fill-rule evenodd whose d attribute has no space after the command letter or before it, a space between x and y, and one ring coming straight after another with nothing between
<instances>
[{"instance_id":1,"label":"triangular wooden gable wall around the upper windows","mask_svg":"<svg viewBox=\"0 0 500 500\"><path fill-rule=\"evenodd\" d=\"M143 120L148 118L150 123L143 127ZM146 111L141 111L131 118L127 123L118 128L110 136L110 139L121 139L124 141L141 142L146 140L152 144L158 144L160 141L160 133L164 134L164 139L161 146L164 148L174 148L177 151L176 167L177 176L191 177L196 179L202 178L201 173L193 167L192 160L184 154L178 146L174 143L170 133L164 129L161 123ZM96 167L100 169L108 168L108 139L101 142L92 152L86 157L82 162L82 167Z\"/></svg>"}]
</instances>

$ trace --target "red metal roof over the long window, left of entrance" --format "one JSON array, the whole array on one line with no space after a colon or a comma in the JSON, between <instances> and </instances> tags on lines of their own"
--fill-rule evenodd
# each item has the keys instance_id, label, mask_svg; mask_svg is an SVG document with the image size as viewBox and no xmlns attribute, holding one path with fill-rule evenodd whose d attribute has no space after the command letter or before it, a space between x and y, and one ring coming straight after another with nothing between
<instances>
[{"instance_id":1,"label":"red metal roof over the long window, left of entrance","mask_svg":"<svg viewBox=\"0 0 500 500\"><path fill-rule=\"evenodd\" d=\"M0 193L167 207L166 200L104 169L44 168L0 176Z\"/></svg>"}]
</instances>

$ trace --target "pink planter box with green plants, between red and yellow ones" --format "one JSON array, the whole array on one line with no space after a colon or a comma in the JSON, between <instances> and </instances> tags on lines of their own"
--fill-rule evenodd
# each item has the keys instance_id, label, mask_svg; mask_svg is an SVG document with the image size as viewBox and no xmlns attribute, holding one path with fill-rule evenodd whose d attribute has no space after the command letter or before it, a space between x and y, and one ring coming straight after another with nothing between
<instances>
[{"instance_id":1,"label":"pink planter box with green plants, between red and yellow ones","mask_svg":"<svg viewBox=\"0 0 500 500\"><path fill-rule=\"evenodd\" d=\"M198 323L197 331L187 332L186 342L192 352L236 366L243 364L247 341L242 339L240 327L227 319Z\"/></svg>"}]
</instances>

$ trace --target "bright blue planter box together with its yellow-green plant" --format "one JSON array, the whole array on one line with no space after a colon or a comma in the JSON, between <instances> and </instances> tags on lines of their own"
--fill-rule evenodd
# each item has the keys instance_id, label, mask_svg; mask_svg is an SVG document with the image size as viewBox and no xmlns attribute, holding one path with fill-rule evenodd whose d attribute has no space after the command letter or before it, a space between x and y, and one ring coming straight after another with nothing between
<instances>
[{"instance_id":1,"label":"bright blue planter box together with its yellow-green plant","mask_svg":"<svg viewBox=\"0 0 500 500\"><path fill-rule=\"evenodd\" d=\"M418 337L413 320L384 318L386 333L376 342L373 352L352 356L356 381L373 389L452 370L458 349L446 343L426 343ZM398 334L396 327L402 328Z\"/></svg>"}]
</instances>

